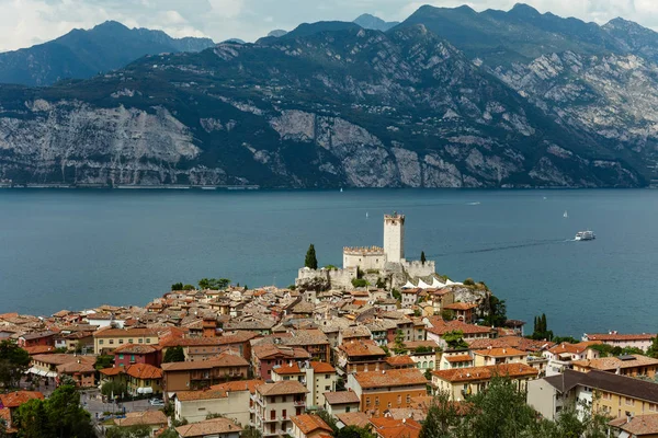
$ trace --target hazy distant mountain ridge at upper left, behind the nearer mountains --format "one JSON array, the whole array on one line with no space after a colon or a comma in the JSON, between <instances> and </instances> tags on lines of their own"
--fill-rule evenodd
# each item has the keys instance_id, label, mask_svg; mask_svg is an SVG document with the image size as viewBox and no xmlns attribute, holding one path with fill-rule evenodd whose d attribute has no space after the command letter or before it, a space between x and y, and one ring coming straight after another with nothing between
<instances>
[{"instance_id":1,"label":"hazy distant mountain ridge at upper left, behind the nearer mountains","mask_svg":"<svg viewBox=\"0 0 658 438\"><path fill-rule=\"evenodd\" d=\"M73 30L48 43L0 54L0 83L50 85L65 78L87 79L116 70L145 55L201 51L208 38L172 38L162 31L128 28L114 21Z\"/></svg>"}]
</instances>

